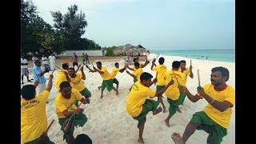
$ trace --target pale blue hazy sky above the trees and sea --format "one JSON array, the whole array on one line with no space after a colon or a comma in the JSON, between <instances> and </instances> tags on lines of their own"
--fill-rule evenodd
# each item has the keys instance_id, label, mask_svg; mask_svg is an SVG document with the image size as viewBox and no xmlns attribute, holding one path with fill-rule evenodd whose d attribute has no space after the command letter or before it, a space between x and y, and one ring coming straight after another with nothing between
<instances>
[{"instance_id":1,"label":"pale blue hazy sky above the trees and sea","mask_svg":"<svg viewBox=\"0 0 256 144\"><path fill-rule=\"evenodd\" d=\"M234 50L234 0L32 0L53 25L50 11L78 5L86 14L83 38L100 46L141 44L149 50Z\"/></svg>"}]
</instances>

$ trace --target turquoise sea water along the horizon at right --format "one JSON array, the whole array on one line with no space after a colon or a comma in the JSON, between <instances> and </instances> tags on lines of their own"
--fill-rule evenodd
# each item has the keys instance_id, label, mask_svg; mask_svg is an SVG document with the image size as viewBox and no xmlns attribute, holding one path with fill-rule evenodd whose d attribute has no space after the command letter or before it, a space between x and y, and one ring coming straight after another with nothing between
<instances>
[{"instance_id":1,"label":"turquoise sea water along the horizon at right","mask_svg":"<svg viewBox=\"0 0 256 144\"><path fill-rule=\"evenodd\" d=\"M218 62L235 62L235 50L150 50L150 53Z\"/></svg>"}]
</instances>

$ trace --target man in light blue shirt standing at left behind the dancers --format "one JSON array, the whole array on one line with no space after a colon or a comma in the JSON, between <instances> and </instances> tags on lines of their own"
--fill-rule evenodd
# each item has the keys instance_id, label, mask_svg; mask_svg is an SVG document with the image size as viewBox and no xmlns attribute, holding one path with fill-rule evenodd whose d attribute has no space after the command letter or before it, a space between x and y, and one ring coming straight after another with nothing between
<instances>
[{"instance_id":1,"label":"man in light blue shirt standing at left behind the dancers","mask_svg":"<svg viewBox=\"0 0 256 144\"><path fill-rule=\"evenodd\" d=\"M44 71L42 71L41 61L39 59L34 61L33 76L36 83L35 90L37 94L41 94L43 90L46 90L46 78L44 74L46 74L47 72L49 72L49 69L45 69Z\"/></svg>"}]
</instances>

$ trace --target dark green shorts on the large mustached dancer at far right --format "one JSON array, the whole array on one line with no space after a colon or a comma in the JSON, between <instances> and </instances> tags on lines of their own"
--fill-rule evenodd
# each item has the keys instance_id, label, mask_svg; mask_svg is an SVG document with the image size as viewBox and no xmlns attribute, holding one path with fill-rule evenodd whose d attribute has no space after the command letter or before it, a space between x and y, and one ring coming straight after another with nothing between
<instances>
[{"instance_id":1,"label":"dark green shorts on the large mustached dancer at far right","mask_svg":"<svg viewBox=\"0 0 256 144\"><path fill-rule=\"evenodd\" d=\"M214 142L214 144L219 144L222 142L222 138L227 134L227 129L210 119L204 111L194 113L190 122L200 122L197 130L204 130L209 134L207 143Z\"/></svg>"}]
</instances>

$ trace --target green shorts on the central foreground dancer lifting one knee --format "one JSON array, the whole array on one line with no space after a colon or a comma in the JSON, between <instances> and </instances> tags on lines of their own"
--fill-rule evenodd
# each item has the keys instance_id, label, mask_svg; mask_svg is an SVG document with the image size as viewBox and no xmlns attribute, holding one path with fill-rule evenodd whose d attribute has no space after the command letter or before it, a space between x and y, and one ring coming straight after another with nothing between
<instances>
[{"instance_id":1,"label":"green shorts on the central foreground dancer lifting one knee","mask_svg":"<svg viewBox=\"0 0 256 144\"><path fill-rule=\"evenodd\" d=\"M152 99L146 99L146 101L142 105L142 112L137 117L133 117L138 121L137 127L140 126L143 121L146 122L146 114L148 114L150 111L157 110L158 105L159 102Z\"/></svg>"}]
</instances>

